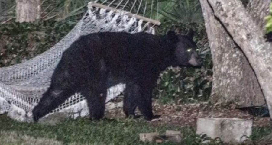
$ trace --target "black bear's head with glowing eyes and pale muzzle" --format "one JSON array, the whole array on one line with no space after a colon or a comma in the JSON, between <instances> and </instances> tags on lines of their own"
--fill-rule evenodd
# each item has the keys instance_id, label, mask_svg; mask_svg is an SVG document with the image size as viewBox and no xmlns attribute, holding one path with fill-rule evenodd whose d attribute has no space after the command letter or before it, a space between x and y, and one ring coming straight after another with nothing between
<instances>
[{"instance_id":1,"label":"black bear's head with glowing eyes and pale muzzle","mask_svg":"<svg viewBox=\"0 0 272 145\"><path fill-rule=\"evenodd\" d=\"M202 58L197 52L196 43L193 41L193 31L185 35L177 35L174 31L167 33L172 42L175 43L174 63L178 66L202 66Z\"/></svg>"}]
</instances>

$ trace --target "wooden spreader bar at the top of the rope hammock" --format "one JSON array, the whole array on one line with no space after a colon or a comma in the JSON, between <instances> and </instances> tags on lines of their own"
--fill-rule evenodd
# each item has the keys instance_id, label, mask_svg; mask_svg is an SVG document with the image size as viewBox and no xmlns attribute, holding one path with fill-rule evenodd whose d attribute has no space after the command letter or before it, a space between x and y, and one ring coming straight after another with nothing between
<instances>
[{"instance_id":1,"label":"wooden spreader bar at the top of the rope hammock","mask_svg":"<svg viewBox=\"0 0 272 145\"><path fill-rule=\"evenodd\" d=\"M101 4L98 4L98 3L95 3L95 2L90 3L90 5L94 6L94 7L98 7L98 8L104 8L104 9L112 10L114 12L119 11L118 9L111 8L111 7L108 7L106 5L101 5ZM141 19L141 20L143 20L145 22L150 22L150 23L158 25L158 26L160 25L160 21L157 21L157 20L154 20L154 19L146 18L146 17L140 16L140 15L137 15L137 14L132 14L130 12L126 12L125 14L128 15L128 16L131 16L131 17Z\"/></svg>"}]
</instances>

